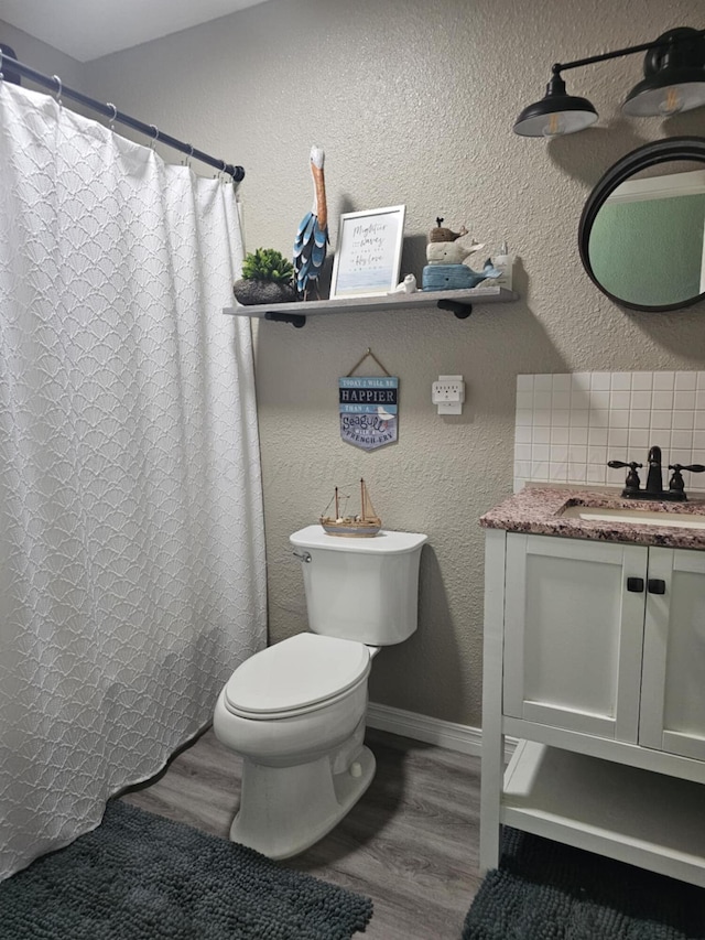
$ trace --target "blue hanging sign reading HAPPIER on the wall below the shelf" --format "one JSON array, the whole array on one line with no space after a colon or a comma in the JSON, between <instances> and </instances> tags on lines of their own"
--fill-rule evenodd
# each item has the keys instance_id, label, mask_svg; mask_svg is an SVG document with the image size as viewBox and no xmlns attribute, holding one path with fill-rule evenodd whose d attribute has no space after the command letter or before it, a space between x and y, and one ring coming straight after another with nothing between
<instances>
[{"instance_id":1,"label":"blue hanging sign reading HAPPIER on the wall below the shelf","mask_svg":"<svg viewBox=\"0 0 705 940\"><path fill-rule=\"evenodd\" d=\"M373 451L397 440L399 379L395 376L347 376L338 379L340 436Z\"/></svg>"}]
</instances>

